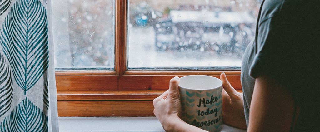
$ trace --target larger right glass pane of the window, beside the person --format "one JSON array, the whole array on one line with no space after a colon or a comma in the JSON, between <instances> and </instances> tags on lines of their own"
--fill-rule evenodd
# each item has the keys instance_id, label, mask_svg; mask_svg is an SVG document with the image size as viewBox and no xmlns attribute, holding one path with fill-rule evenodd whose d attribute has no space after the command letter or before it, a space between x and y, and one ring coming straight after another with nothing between
<instances>
[{"instance_id":1,"label":"larger right glass pane of the window, beside the person","mask_svg":"<svg viewBox=\"0 0 320 132\"><path fill-rule=\"evenodd\" d=\"M239 69L256 0L129 0L128 68Z\"/></svg>"}]
</instances>

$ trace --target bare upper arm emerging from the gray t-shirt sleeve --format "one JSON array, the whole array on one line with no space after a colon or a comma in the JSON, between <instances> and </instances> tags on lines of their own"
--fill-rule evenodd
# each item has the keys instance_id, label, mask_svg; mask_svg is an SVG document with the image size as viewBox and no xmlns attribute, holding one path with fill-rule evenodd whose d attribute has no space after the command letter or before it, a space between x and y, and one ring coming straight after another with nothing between
<instances>
[{"instance_id":1,"label":"bare upper arm emerging from the gray t-shirt sleeve","mask_svg":"<svg viewBox=\"0 0 320 132\"><path fill-rule=\"evenodd\" d=\"M293 98L284 86L266 75L256 78L248 132L290 131L293 113Z\"/></svg>"}]
</instances>

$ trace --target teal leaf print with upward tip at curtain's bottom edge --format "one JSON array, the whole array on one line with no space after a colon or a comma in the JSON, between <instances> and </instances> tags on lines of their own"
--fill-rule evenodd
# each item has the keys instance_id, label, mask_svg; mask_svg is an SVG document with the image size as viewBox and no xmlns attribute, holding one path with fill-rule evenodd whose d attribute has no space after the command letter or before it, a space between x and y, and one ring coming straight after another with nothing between
<instances>
[{"instance_id":1,"label":"teal leaf print with upward tip at curtain's bottom edge","mask_svg":"<svg viewBox=\"0 0 320 132\"><path fill-rule=\"evenodd\" d=\"M25 98L0 124L1 132L47 132L48 117Z\"/></svg>"}]
</instances>

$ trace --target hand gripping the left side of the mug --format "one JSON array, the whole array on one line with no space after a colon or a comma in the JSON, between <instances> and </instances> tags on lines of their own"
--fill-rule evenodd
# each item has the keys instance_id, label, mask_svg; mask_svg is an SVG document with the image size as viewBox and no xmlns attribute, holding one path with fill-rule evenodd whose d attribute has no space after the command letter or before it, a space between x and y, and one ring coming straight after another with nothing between
<instances>
[{"instance_id":1,"label":"hand gripping the left side of the mug","mask_svg":"<svg viewBox=\"0 0 320 132\"><path fill-rule=\"evenodd\" d=\"M153 113L159 119L164 130L170 131L173 127L171 123L181 121L181 102L178 91L179 77L170 80L169 90L153 100L155 107Z\"/></svg>"}]
</instances>

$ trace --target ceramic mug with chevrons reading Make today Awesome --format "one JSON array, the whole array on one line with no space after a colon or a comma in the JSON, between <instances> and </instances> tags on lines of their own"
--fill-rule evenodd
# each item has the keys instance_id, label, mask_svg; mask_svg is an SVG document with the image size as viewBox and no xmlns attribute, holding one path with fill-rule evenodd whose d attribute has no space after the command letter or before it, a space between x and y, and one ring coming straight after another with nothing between
<instances>
[{"instance_id":1,"label":"ceramic mug with chevrons reading Make today Awesome","mask_svg":"<svg viewBox=\"0 0 320 132\"><path fill-rule=\"evenodd\" d=\"M206 75L180 78L182 120L207 131L220 131L222 124L222 82Z\"/></svg>"}]
</instances>

